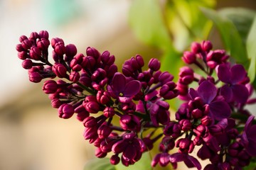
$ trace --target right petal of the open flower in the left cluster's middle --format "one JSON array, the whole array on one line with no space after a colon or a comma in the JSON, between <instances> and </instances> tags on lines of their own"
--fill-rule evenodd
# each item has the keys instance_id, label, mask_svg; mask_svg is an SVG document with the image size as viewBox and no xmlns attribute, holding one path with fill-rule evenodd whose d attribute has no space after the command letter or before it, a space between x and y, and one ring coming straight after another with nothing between
<instances>
[{"instance_id":1,"label":"right petal of the open flower in the left cluster's middle","mask_svg":"<svg viewBox=\"0 0 256 170\"><path fill-rule=\"evenodd\" d=\"M139 93L142 84L137 80L129 81L124 88L124 96L131 97Z\"/></svg>"}]
</instances>

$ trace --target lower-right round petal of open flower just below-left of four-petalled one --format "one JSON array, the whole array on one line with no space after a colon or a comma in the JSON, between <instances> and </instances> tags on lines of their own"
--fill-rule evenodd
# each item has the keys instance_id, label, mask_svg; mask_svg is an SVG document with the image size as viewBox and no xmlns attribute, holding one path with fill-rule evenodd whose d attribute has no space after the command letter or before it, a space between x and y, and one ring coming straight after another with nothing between
<instances>
[{"instance_id":1,"label":"lower-right round petal of open flower just below-left of four-petalled one","mask_svg":"<svg viewBox=\"0 0 256 170\"><path fill-rule=\"evenodd\" d=\"M229 118L231 114L230 106L225 101L213 101L209 104L210 113L215 120Z\"/></svg>"}]
</instances>

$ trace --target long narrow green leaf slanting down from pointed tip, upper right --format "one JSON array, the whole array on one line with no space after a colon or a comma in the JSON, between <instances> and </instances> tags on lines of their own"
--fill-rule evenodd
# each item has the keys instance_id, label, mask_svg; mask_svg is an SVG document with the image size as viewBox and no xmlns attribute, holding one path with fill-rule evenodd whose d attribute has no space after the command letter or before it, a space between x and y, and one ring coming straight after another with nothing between
<instances>
[{"instance_id":1,"label":"long narrow green leaf slanting down from pointed tip, upper right","mask_svg":"<svg viewBox=\"0 0 256 170\"><path fill-rule=\"evenodd\" d=\"M233 57L236 62L247 67L248 58L245 45L242 43L242 38L240 38L238 30L235 28L232 21L212 9L201 8L201 10L218 28L225 49L230 52L231 57Z\"/></svg>"}]
</instances>

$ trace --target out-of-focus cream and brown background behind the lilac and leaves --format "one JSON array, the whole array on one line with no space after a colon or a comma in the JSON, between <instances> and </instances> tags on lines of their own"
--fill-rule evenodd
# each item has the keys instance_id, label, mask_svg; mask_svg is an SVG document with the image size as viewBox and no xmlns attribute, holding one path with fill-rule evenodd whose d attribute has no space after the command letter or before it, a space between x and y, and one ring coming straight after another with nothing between
<instances>
[{"instance_id":1,"label":"out-of-focus cream and brown background behind the lilac and leaves","mask_svg":"<svg viewBox=\"0 0 256 170\"><path fill-rule=\"evenodd\" d=\"M82 137L75 117L58 118L43 94L43 83L28 81L15 50L20 35L48 30L50 38L109 50L117 64L136 54L159 57L144 45L128 23L132 0L1 0L0 1L0 170L82 169L94 148ZM219 0L226 6L256 9L255 0ZM214 36L213 36L214 37ZM218 41L218 40L216 40Z\"/></svg>"}]
</instances>

